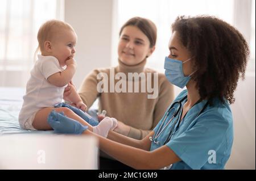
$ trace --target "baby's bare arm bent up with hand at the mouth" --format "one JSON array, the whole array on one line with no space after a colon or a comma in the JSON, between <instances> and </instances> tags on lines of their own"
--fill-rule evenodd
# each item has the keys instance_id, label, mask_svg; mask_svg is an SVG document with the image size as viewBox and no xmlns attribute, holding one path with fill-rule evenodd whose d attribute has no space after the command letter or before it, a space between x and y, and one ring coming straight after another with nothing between
<instances>
[{"instance_id":1,"label":"baby's bare arm bent up with hand at the mouth","mask_svg":"<svg viewBox=\"0 0 256 181\"><path fill-rule=\"evenodd\" d=\"M67 68L63 71L57 72L49 76L47 78L49 83L57 87L63 87L71 81L76 71L76 62L72 57L70 57L65 63L67 65Z\"/></svg>"}]
</instances>

